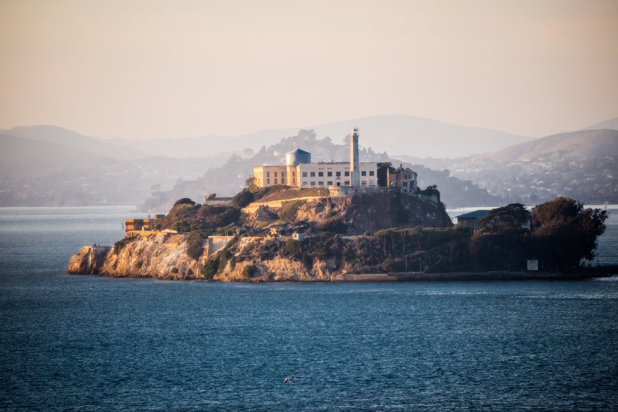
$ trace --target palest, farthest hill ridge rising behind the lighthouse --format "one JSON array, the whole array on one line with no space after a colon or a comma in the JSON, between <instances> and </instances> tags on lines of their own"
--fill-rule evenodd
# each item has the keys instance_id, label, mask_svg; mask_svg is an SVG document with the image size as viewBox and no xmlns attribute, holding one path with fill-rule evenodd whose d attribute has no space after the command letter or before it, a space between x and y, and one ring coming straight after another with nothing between
<instances>
[{"instance_id":1,"label":"palest, farthest hill ridge rising behind the lighthouse","mask_svg":"<svg viewBox=\"0 0 618 412\"><path fill-rule=\"evenodd\" d=\"M459 158L473 153L496 151L533 140L481 127L467 127L406 115L359 117L318 125L295 128L266 129L242 136L205 136L197 138L167 138L150 141L125 139L109 140L116 145L141 149L154 156L176 158L211 156L220 152L241 152L250 148L259 151L263 146L294 137L298 130L315 130L318 138L330 137L343 143L352 130L360 128L360 144L376 153L409 155L420 158Z\"/></svg>"}]
</instances>

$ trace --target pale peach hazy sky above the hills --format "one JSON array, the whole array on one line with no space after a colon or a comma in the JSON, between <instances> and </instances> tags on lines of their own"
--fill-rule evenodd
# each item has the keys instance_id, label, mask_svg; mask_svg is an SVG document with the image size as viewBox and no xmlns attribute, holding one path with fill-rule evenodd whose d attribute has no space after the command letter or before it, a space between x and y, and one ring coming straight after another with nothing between
<instances>
[{"instance_id":1,"label":"pale peach hazy sky above the hills","mask_svg":"<svg viewBox=\"0 0 618 412\"><path fill-rule=\"evenodd\" d=\"M0 128L239 135L409 114L618 116L618 1L0 0Z\"/></svg>"}]
</instances>

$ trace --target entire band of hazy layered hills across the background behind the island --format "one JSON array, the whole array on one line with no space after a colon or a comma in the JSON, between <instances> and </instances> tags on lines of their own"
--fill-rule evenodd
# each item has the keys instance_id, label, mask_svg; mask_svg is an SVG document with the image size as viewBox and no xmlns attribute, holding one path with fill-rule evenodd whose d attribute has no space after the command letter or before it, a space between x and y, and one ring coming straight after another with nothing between
<instances>
[{"instance_id":1,"label":"entire band of hazy layered hills across the background behind the island","mask_svg":"<svg viewBox=\"0 0 618 412\"><path fill-rule=\"evenodd\" d=\"M137 204L153 191L169 192L170 201L175 200L176 195L197 200L210 192L219 196L233 195L252 173L252 166L281 162L282 153L291 148L308 149L314 161L344 160L349 155L350 124L361 128L362 156L366 160L391 159L395 166L406 162L420 172L419 182L439 184L446 190L444 200L451 200L452 206L495 205L504 200L530 203L557 195L582 201L618 200L614 183L614 176L618 175L616 130L560 133L506 147L499 136L507 137L507 133L460 128L411 116L373 116L318 125L316 128L321 130L322 138L313 130L262 130L245 135L252 142L247 146L241 138L228 141L216 137L210 143L206 138L133 141L131 144L135 146L129 147L121 146L127 143L121 139L101 140L54 126L2 130L0 206ZM372 129L378 124L383 124L384 134ZM436 128L431 129L434 126ZM453 148L462 153L482 148L483 153L478 150L476 153L481 154L455 159L397 154L417 154L416 149L422 145L431 146L433 153L439 153L447 138L457 140L405 137L411 136L414 130L420 133L423 128L429 130L425 135L434 133L434 136L438 136L440 130L487 133L494 141L457 135L460 145ZM281 135L287 137L279 138ZM326 135L331 138L326 139ZM275 143L267 146L267 141ZM477 145L477 141L481 143ZM489 143L498 145L499 150L486 151ZM398 146L394 154L387 155L383 150L389 144ZM234 145L241 148L256 145L260 149L232 151ZM228 152L216 152L217 147L226 148ZM153 157L156 153L167 157ZM173 154L187 156L169 157ZM493 197L486 196L485 189Z\"/></svg>"}]
</instances>

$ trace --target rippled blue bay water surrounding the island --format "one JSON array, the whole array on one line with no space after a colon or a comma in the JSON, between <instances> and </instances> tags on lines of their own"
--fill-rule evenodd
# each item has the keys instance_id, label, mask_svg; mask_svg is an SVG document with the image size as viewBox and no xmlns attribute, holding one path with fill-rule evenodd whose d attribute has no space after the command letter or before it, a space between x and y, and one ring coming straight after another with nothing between
<instances>
[{"instance_id":1,"label":"rippled blue bay water surrounding the island","mask_svg":"<svg viewBox=\"0 0 618 412\"><path fill-rule=\"evenodd\" d=\"M80 246L112 244L141 217L127 209L0 209L0 410L618 410L616 276L64 274Z\"/></svg>"}]
</instances>

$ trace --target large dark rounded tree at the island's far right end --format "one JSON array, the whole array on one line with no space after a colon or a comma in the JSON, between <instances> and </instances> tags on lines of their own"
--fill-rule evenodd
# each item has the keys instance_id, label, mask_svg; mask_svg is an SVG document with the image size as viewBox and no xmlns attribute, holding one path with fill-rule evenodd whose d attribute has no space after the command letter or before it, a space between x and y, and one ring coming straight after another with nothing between
<instances>
[{"instance_id":1,"label":"large dark rounded tree at the island's far right end","mask_svg":"<svg viewBox=\"0 0 618 412\"><path fill-rule=\"evenodd\" d=\"M594 259L597 239L606 229L607 212L583 208L570 198L557 198L532 209L531 253L546 269L577 267L580 260Z\"/></svg>"}]
</instances>

